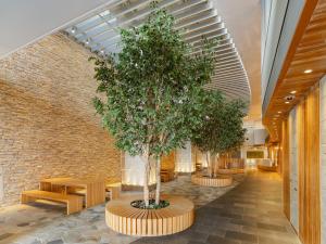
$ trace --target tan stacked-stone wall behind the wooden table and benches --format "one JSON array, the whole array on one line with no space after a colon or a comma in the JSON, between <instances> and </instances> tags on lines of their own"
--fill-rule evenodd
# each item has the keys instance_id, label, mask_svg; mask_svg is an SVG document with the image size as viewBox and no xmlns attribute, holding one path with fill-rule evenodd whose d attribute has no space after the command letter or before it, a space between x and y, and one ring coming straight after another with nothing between
<instances>
[{"instance_id":1,"label":"tan stacked-stone wall behind the wooden table and benches","mask_svg":"<svg viewBox=\"0 0 326 244\"><path fill-rule=\"evenodd\" d=\"M0 60L0 206L46 177L121 176L121 153L91 105L90 55L55 34Z\"/></svg>"}]
</instances>

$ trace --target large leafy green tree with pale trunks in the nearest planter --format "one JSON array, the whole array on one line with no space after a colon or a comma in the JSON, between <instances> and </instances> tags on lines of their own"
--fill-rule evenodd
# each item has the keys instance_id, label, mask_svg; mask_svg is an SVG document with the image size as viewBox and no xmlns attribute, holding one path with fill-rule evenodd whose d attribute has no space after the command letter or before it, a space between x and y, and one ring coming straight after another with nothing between
<instances>
[{"instance_id":1,"label":"large leafy green tree with pale trunks in the nearest planter","mask_svg":"<svg viewBox=\"0 0 326 244\"><path fill-rule=\"evenodd\" d=\"M150 159L155 159L159 204L161 157L183 146L202 123L202 86L214 70L217 41L203 41L202 51L192 55L174 22L166 11L154 10L139 27L121 29L117 56L95 62L97 91L104 94L93 100L96 110L116 146L143 159L146 206Z\"/></svg>"}]
</instances>

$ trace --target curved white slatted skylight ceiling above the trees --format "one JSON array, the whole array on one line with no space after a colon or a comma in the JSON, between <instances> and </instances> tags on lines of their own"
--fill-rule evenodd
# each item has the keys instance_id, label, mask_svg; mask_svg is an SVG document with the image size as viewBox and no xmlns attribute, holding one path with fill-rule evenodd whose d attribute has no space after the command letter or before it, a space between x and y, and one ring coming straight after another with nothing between
<instances>
[{"instance_id":1,"label":"curved white slatted skylight ceiling above the trees","mask_svg":"<svg viewBox=\"0 0 326 244\"><path fill-rule=\"evenodd\" d=\"M70 26L65 31L93 52L120 52L118 28L139 26L151 13L152 0L114 1L105 9ZM235 43L217 11L209 0L161 0L176 20L175 28L192 46L190 55L202 51L202 38L220 38L215 48L215 75L206 89L221 89L229 99L250 101L250 87ZM74 30L74 31L72 31Z\"/></svg>"}]
</instances>

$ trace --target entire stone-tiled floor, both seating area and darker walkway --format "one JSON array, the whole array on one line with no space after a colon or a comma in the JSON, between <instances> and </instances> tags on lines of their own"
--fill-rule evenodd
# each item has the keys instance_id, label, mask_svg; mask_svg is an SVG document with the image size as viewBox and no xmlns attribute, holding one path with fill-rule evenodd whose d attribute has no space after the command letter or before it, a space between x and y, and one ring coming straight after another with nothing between
<instances>
[{"instance_id":1,"label":"entire stone-tiled floor, both seating area and darker walkway","mask_svg":"<svg viewBox=\"0 0 326 244\"><path fill-rule=\"evenodd\" d=\"M229 188L195 185L189 176L163 184L164 193L196 204L196 223L163 237L130 237L106 228L104 205L64 216L58 205L36 203L0 208L0 244L298 244L281 213L281 182L276 174L237 176Z\"/></svg>"}]
</instances>

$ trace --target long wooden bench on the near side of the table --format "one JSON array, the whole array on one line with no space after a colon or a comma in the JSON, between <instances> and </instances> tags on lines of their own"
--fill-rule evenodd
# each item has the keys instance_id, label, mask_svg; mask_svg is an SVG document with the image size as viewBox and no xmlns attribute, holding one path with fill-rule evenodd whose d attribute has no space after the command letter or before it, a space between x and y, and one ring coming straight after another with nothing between
<instances>
[{"instance_id":1,"label":"long wooden bench on the near side of the table","mask_svg":"<svg viewBox=\"0 0 326 244\"><path fill-rule=\"evenodd\" d=\"M66 204L66 214L73 214L83 209L83 196L61 194L57 192L47 192L39 190L24 191L21 195L21 203L25 204L36 200L49 200Z\"/></svg>"}]
</instances>

